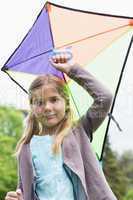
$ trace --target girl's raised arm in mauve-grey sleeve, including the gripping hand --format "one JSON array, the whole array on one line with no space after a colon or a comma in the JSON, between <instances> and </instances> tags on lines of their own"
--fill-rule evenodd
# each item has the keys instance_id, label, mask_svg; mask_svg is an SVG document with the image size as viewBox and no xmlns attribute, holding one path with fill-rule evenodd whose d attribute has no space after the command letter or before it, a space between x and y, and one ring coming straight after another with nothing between
<instances>
[{"instance_id":1,"label":"girl's raised arm in mauve-grey sleeve, including the gripping hand","mask_svg":"<svg viewBox=\"0 0 133 200\"><path fill-rule=\"evenodd\" d=\"M91 137L91 133L101 125L108 114L112 94L88 71L85 71L73 61L68 61L67 54L53 56L50 61L56 69L66 73L92 96L94 102L81 118L86 133Z\"/></svg>"}]
</instances>

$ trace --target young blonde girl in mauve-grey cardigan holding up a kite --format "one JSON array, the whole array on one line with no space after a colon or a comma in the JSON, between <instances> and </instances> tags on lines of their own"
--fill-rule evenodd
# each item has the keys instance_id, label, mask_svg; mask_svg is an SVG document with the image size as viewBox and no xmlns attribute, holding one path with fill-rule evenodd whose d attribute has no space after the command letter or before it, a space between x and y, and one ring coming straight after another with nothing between
<instances>
[{"instance_id":1,"label":"young blonde girl in mauve-grey cardigan holding up a kite","mask_svg":"<svg viewBox=\"0 0 133 200\"><path fill-rule=\"evenodd\" d=\"M53 75L33 81L31 112L17 146L18 189L8 192L5 199L116 200L90 144L112 96L90 73L68 61L67 53L52 56L50 62L80 84L94 102L73 123L65 82Z\"/></svg>"}]
</instances>

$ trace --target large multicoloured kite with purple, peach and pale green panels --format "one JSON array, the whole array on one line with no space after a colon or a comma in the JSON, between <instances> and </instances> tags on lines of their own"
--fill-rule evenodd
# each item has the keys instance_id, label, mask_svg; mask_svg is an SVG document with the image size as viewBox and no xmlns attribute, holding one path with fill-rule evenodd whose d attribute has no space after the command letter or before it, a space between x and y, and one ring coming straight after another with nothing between
<instances>
[{"instance_id":1,"label":"large multicoloured kite with purple, peach and pale green panels","mask_svg":"<svg viewBox=\"0 0 133 200\"><path fill-rule=\"evenodd\" d=\"M69 48L76 62L114 94L112 114L132 41L132 17L76 10L47 2L2 71L26 92L27 81L30 83L39 74L51 73L63 78L63 74L51 66L49 57L53 49ZM68 85L72 100L82 115L92 99L72 80ZM99 160L102 159L110 119L106 118L94 134L92 146Z\"/></svg>"}]
</instances>

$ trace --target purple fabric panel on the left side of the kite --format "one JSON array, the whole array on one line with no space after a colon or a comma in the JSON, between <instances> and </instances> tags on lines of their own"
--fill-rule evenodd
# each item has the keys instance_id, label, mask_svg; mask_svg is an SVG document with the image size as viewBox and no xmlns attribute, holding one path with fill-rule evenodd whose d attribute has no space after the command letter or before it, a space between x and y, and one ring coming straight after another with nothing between
<instances>
[{"instance_id":1,"label":"purple fabric panel on the left side of the kite","mask_svg":"<svg viewBox=\"0 0 133 200\"><path fill-rule=\"evenodd\" d=\"M19 67L18 71L21 71L20 68L22 68L23 72L32 71L32 73L36 73L36 71L34 70L40 69L42 67L43 56L40 57L39 55L44 54L45 52L48 52L52 49L53 41L50 30L48 12L45 8L43 8L34 25L25 36L19 47L7 61L5 66L9 70L17 70L17 68ZM44 63L46 62L47 56L48 55L44 56ZM28 61L30 59L32 59L32 61ZM31 62L30 67L33 67L33 69L28 69L29 64L27 64L27 61L28 63ZM39 63L39 61L41 61L41 63ZM37 67L37 69L35 69L36 65L40 65L40 67Z\"/></svg>"}]
</instances>

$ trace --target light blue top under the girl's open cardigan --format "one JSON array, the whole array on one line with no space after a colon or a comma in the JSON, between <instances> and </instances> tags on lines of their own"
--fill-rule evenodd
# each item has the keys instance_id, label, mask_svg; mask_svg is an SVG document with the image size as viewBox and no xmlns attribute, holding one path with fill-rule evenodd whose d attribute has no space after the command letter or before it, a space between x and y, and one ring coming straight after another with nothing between
<instances>
[{"instance_id":1,"label":"light blue top under the girl's open cardigan","mask_svg":"<svg viewBox=\"0 0 133 200\"><path fill-rule=\"evenodd\" d=\"M74 200L72 183L63 168L62 153L52 153L53 137L34 135L30 142L40 200Z\"/></svg>"}]
</instances>

